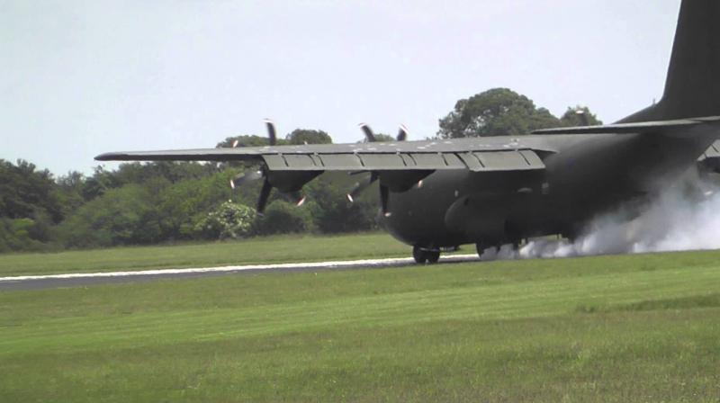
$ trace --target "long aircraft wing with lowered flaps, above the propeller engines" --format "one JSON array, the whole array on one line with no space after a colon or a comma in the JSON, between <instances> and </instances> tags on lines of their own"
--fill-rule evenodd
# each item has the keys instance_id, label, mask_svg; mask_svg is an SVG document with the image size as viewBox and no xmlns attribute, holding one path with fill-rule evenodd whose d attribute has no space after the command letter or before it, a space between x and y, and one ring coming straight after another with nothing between
<instances>
[{"instance_id":1,"label":"long aircraft wing with lowered flaps, above the propeller engines","mask_svg":"<svg viewBox=\"0 0 720 403\"><path fill-rule=\"evenodd\" d=\"M247 161L270 171L435 171L545 169L538 152L554 149L521 139L478 138L166 151L113 152L98 161Z\"/></svg>"}]
</instances>

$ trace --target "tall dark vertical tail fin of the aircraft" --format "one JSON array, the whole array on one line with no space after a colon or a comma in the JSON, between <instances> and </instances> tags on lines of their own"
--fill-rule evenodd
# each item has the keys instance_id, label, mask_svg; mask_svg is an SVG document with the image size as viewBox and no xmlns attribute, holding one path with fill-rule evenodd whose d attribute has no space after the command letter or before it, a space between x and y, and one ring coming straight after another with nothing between
<instances>
[{"instance_id":1,"label":"tall dark vertical tail fin of the aircraft","mask_svg":"<svg viewBox=\"0 0 720 403\"><path fill-rule=\"evenodd\" d=\"M720 115L720 1L683 0L665 92L620 123Z\"/></svg>"}]
</instances>

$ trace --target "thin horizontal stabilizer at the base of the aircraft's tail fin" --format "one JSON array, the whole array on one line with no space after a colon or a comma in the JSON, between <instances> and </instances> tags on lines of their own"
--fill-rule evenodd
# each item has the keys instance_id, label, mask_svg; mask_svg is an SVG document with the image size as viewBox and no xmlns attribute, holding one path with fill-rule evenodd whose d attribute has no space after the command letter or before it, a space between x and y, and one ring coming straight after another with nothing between
<instances>
[{"instance_id":1,"label":"thin horizontal stabilizer at the base of the aircraft's tail fin","mask_svg":"<svg viewBox=\"0 0 720 403\"><path fill-rule=\"evenodd\" d=\"M641 121L637 123L617 123L604 126L581 126L572 128L554 128L535 130L533 134L640 134L673 133L682 134L683 130L707 126L720 130L720 116L676 121Z\"/></svg>"}]
</instances>

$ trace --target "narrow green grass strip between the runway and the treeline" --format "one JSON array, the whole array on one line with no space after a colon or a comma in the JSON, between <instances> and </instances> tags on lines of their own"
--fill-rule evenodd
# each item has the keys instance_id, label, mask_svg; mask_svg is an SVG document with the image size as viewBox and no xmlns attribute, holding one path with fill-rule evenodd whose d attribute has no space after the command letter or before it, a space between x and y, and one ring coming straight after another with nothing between
<instances>
[{"instance_id":1,"label":"narrow green grass strip between the runway and the treeline","mask_svg":"<svg viewBox=\"0 0 720 403\"><path fill-rule=\"evenodd\" d=\"M56 254L0 255L0 277L217 265L320 262L410 256L410 246L383 233L335 237L257 237L234 242L116 247Z\"/></svg>"}]
</instances>

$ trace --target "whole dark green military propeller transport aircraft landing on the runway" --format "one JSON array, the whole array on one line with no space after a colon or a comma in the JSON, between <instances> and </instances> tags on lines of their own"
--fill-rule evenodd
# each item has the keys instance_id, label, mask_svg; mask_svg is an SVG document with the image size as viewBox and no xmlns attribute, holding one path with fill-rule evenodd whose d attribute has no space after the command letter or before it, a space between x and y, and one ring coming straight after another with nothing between
<instances>
[{"instance_id":1,"label":"whole dark green military propeller transport aircraft landing on the runway","mask_svg":"<svg viewBox=\"0 0 720 403\"><path fill-rule=\"evenodd\" d=\"M653 34L648 32L648 34ZM608 57L608 63L626 63ZM598 214L652 197L689 169L720 166L720 1L683 0L662 100L615 124L537 130L520 137L116 152L100 161L245 161L263 180L262 212L273 188L304 200L302 186L325 171L365 172L348 193L380 188L380 219L413 246L418 263L476 244L518 244L527 237L575 237ZM366 174L367 175L367 174Z\"/></svg>"}]
</instances>

